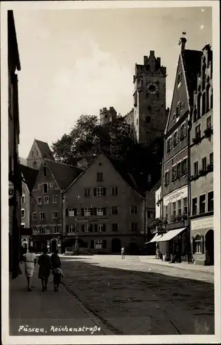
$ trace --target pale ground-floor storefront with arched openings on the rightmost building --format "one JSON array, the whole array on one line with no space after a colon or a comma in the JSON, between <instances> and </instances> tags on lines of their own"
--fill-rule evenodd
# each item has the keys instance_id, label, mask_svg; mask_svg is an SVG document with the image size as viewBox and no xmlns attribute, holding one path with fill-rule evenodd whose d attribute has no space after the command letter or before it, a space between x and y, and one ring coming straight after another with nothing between
<instances>
[{"instance_id":1,"label":"pale ground-floor storefront with arched openings on the rightmost building","mask_svg":"<svg viewBox=\"0 0 221 345\"><path fill-rule=\"evenodd\" d=\"M214 264L213 215L191 219L191 245L195 264Z\"/></svg>"}]
</instances>

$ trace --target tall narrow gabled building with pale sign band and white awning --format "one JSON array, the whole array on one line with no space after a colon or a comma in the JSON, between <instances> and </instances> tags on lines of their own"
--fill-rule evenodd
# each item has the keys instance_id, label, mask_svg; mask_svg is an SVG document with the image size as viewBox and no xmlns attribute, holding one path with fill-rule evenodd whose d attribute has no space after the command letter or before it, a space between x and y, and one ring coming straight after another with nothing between
<instances>
[{"instance_id":1,"label":"tall narrow gabled building with pale sign band and white awning","mask_svg":"<svg viewBox=\"0 0 221 345\"><path fill-rule=\"evenodd\" d=\"M166 260L170 260L177 250L182 260L187 260L190 251L188 121L202 52L186 50L185 44L186 38L182 37L171 110L164 134L162 221L164 230L173 232L157 242Z\"/></svg>"}]
</instances>

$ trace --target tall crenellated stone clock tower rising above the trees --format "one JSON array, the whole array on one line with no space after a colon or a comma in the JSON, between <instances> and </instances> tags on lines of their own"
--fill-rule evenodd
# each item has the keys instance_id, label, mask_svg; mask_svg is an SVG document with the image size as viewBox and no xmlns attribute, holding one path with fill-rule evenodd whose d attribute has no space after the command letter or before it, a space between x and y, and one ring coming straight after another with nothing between
<instances>
[{"instance_id":1,"label":"tall crenellated stone clock tower rising above the trees","mask_svg":"<svg viewBox=\"0 0 221 345\"><path fill-rule=\"evenodd\" d=\"M137 141L149 145L164 134L168 111L166 110L166 67L160 65L151 50L144 57L144 65L135 65L134 128Z\"/></svg>"}]
</instances>

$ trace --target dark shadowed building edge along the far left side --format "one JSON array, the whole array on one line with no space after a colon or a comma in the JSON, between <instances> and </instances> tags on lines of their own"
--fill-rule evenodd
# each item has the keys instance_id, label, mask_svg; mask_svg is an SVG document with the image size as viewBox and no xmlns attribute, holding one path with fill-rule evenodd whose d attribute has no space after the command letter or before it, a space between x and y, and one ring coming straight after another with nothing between
<instances>
[{"instance_id":1,"label":"dark shadowed building edge along the far left side","mask_svg":"<svg viewBox=\"0 0 221 345\"><path fill-rule=\"evenodd\" d=\"M8 10L8 171L9 171L9 271L12 279L19 274L20 197L19 173L19 97L17 71L21 70L12 10Z\"/></svg>"}]
</instances>

